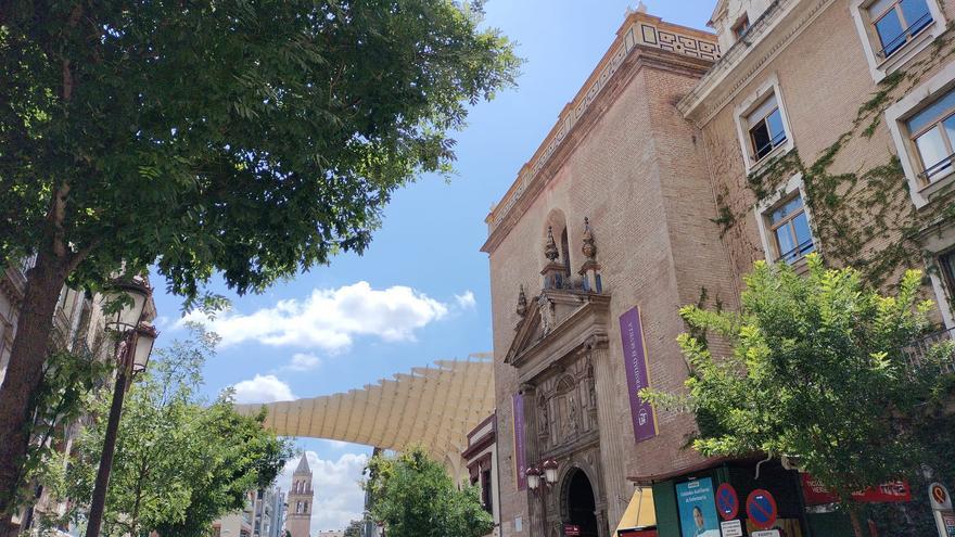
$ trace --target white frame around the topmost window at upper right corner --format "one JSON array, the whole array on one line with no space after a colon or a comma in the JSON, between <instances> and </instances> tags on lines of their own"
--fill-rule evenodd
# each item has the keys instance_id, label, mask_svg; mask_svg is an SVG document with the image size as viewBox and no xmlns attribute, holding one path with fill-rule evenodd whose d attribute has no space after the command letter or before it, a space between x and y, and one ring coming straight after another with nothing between
<instances>
[{"instance_id":1,"label":"white frame around the topmost window at upper right corner","mask_svg":"<svg viewBox=\"0 0 955 537\"><path fill-rule=\"evenodd\" d=\"M876 23L881 21L893 10L897 10L896 13L900 16L900 24L905 21L905 16L902 13L902 0L893 2L891 7L879 13L878 16L870 16L869 8L871 8L876 1L877 0L853 0L850 4L850 12L855 22L855 29L858 34L860 41L862 41L866 63L869 66L869 73L873 76L873 80L878 82L907 64L909 60L924 51L937 37L942 35L945 31L947 21L945 20L944 12L938 0L925 0L929 14L932 17L932 22L912 35L908 34L908 27L903 28L903 33L908 36L905 43L892 51L891 54L879 57L879 53L884 51L884 47L881 43Z\"/></svg>"}]
</instances>

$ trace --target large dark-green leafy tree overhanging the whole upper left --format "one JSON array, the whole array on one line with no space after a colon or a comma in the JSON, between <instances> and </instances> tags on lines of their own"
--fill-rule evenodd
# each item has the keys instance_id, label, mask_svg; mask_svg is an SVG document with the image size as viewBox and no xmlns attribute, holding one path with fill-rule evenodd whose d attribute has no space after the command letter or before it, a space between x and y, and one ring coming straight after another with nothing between
<instances>
[{"instance_id":1,"label":"large dark-green leafy tree overhanging the whole upper left","mask_svg":"<svg viewBox=\"0 0 955 537\"><path fill-rule=\"evenodd\" d=\"M216 272L255 292L362 252L513 81L482 3L0 0L0 259L37 255L0 388L7 521L64 282L154 264L188 307Z\"/></svg>"}]
</instances>

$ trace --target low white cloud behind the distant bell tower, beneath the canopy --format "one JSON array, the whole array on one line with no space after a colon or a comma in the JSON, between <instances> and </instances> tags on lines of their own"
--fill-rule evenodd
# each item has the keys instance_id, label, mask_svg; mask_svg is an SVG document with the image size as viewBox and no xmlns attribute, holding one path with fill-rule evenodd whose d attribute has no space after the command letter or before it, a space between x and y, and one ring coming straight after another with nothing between
<instances>
[{"instance_id":1,"label":"low white cloud behind the distant bell tower, beneath the canopy","mask_svg":"<svg viewBox=\"0 0 955 537\"><path fill-rule=\"evenodd\" d=\"M311 469L313 499L311 535L320 530L345 529L353 520L361 517L365 510L365 491L359 482L368 456L344 453L339 460L323 460L315 451L306 451ZM278 485L286 491L292 487L292 472L298 465L293 457L278 477Z\"/></svg>"}]
</instances>

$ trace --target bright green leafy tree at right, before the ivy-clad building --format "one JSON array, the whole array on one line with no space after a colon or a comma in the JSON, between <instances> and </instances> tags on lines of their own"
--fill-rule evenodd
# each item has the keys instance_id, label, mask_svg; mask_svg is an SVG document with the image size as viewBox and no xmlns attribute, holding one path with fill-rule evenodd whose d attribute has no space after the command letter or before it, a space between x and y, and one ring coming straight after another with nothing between
<instances>
[{"instance_id":1,"label":"bright green leafy tree at right, before the ivy-clad building","mask_svg":"<svg viewBox=\"0 0 955 537\"><path fill-rule=\"evenodd\" d=\"M922 421L943 401L951 344L920 366L906 347L929 327L921 276L909 271L896 296L868 289L851 268L808 274L757 263L739 312L687 306L679 337L692 374L687 394L641 392L651 402L696 413L704 456L787 456L829 489L862 528L852 493L917 472L928 460ZM706 335L733 353L714 357Z\"/></svg>"}]
</instances>

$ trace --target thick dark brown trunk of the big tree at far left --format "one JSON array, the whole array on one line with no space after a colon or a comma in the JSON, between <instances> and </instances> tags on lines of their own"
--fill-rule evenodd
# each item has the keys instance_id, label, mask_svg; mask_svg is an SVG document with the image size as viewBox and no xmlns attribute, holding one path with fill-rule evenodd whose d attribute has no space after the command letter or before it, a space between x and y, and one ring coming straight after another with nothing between
<instances>
[{"instance_id":1,"label":"thick dark brown trunk of the big tree at far left","mask_svg":"<svg viewBox=\"0 0 955 537\"><path fill-rule=\"evenodd\" d=\"M66 270L58 257L41 251L26 280L10 363L0 386L0 537L18 533L11 522L13 500L23 485L34 397L43 380L53 314Z\"/></svg>"}]
</instances>

